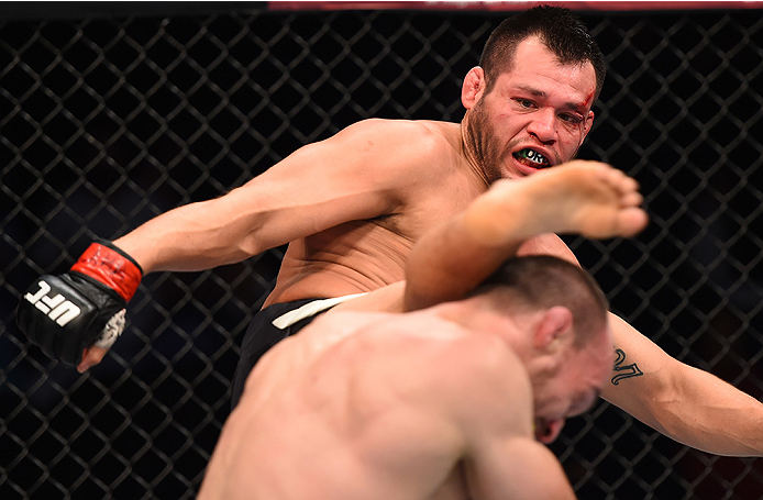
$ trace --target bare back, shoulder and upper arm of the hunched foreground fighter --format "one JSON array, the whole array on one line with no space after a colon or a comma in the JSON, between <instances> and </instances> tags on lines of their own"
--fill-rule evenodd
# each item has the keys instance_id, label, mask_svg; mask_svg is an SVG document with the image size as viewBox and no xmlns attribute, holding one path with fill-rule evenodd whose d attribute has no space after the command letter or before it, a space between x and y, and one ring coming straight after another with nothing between
<instances>
[{"instance_id":1,"label":"bare back, shoulder and upper arm of the hunched foreground fighter","mask_svg":"<svg viewBox=\"0 0 763 500\"><path fill-rule=\"evenodd\" d=\"M403 321L341 312L279 343L250 376L198 499L482 498L469 492L474 478L463 457L472 446L461 424L487 415L507 421L500 433L486 432L485 442L504 457L504 480L527 495L505 490L496 498L574 498L551 452L532 438L530 385L520 362L489 338L475 347L478 334L447 321L450 309ZM321 338L325 332L333 332L330 338ZM484 366L500 368L491 380L509 397L496 398L485 379L456 380ZM410 367L419 367L416 376ZM464 404L453 404L460 399Z\"/></svg>"}]
</instances>

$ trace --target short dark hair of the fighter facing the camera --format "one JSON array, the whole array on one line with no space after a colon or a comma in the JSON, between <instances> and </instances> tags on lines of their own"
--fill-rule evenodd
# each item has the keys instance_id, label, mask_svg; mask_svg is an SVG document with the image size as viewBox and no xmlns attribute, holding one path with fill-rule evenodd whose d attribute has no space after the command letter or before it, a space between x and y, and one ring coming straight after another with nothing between
<instances>
[{"instance_id":1,"label":"short dark hair of the fighter facing the camera","mask_svg":"<svg viewBox=\"0 0 763 500\"><path fill-rule=\"evenodd\" d=\"M598 99L607 73L604 54L579 18L570 9L551 5L534 7L512 15L493 31L479 58L488 92L498 76L511 69L517 45L530 36L539 36L562 64L590 63L596 73L594 99Z\"/></svg>"}]
</instances>

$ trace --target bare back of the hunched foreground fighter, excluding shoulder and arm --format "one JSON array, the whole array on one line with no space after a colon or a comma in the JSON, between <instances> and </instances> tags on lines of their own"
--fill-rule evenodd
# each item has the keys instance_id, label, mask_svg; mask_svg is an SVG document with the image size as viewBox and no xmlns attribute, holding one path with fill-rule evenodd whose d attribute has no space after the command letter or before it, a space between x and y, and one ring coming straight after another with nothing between
<instances>
[{"instance_id":1,"label":"bare back of the hunched foreground fighter, excluding shoulder and arm","mask_svg":"<svg viewBox=\"0 0 763 500\"><path fill-rule=\"evenodd\" d=\"M468 498L463 436L429 402L463 331L427 313L356 318L323 316L263 357L200 500Z\"/></svg>"}]
</instances>

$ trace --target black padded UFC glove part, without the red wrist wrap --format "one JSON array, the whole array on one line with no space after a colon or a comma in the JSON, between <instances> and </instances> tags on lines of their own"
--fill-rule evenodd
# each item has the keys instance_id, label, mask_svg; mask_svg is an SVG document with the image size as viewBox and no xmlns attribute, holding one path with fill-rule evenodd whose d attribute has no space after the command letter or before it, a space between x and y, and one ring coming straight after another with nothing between
<instances>
[{"instance_id":1,"label":"black padded UFC glove part, without the red wrist wrap","mask_svg":"<svg viewBox=\"0 0 763 500\"><path fill-rule=\"evenodd\" d=\"M16 323L46 355L77 366L85 347L101 336L125 305L114 290L78 273L45 275L19 302Z\"/></svg>"}]
</instances>

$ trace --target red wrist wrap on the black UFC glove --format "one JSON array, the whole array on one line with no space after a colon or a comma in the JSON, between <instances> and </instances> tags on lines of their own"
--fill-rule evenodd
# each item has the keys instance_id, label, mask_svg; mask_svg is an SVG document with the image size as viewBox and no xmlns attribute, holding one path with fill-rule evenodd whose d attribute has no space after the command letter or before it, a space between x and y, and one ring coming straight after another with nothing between
<instances>
[{"instance_id":1,"label":"red wrist wrap on the black UFC glove","mask_svg":"<svg viewBox=\"0 0 763 500\"><path fill-rule=\"evenodd\" d=\"M125 302L135 295L143 278L136 262L115 249L100 243L91 244L71 266L73 271L93 278L119 293Z\"/></svg>"}]
</instances>

